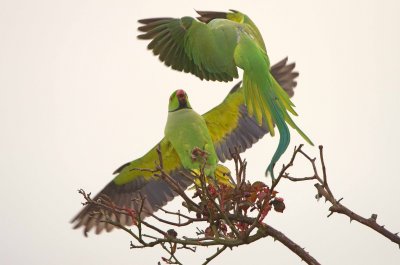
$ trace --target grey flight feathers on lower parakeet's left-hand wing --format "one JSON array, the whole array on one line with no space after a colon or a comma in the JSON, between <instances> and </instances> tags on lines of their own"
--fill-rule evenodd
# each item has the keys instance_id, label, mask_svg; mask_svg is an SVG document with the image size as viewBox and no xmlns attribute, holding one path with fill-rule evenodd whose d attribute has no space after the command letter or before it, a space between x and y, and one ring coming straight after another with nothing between
<instances>
[{"instance_id":1,"label":"grey flight feathers on lower parakeet's left-hand wing","mask_svg":"<svg viewBox=\"0 0 400 265\"><path fill-rule=\"evenodd\" d=\"M174 171L170 175L180 185L181 189L185 190L193 182L186 177L182 177L181 172ZM133 209L137 213L143 205L141 218L144 218L165 206L177 196L177 193L162 179L152 178L151 180L146 180L143 177L139 177L135 181L124 185L116 185L111 181L93 200L97 201L100 196L106 196L119 208ZM144 198L144 200L141 198ZM106 219L103 213L112 221L118 221L121 225L132 225L130 216L117 214L112 210L103 209L103 212L100 212L95 205L86 206L71 222L76 223L75 229L83 226L85 236L93 228L95 228L96 234L99 234L104 229L109 232L115 226L102 222Z\"/></svg>"}]
</instances>

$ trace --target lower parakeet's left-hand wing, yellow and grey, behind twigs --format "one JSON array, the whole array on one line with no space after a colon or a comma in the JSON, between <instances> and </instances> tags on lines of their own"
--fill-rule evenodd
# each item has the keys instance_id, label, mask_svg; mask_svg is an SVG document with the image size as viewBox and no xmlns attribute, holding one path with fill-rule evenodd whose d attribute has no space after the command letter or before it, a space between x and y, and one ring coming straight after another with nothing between
<instances>
[{"instance_id":1,"label":"lower parakeet's left-hand wing, yellow and grey, behind twigs","mask_svg":"<svg viewBox=\"0 0 400 265\"><path fill-rule=\"evenodd\" d=\"M132 162L126 163L118 168L114 174L118 174L103 190L101 190L94 198L96 201L100 195L107 196L117 207L134 209L139 212L142 205L141 196L145 198L143 201L143 209L141 217L149 216L159 208L167 204L177 194L162 179L159 179L151 172L140 171L138 169L153 169L155 162L158 161L157 146L151 149L143 157ZM171 144L166 140L160 142L160 148L163 155L163 168L169 175L175 179L185 190L192 182L182 177L184 171L179 157ZM118 215L112 211L106 211L114 221L119 220L122 225L131 225L132 220L126 215ZM100 213L96 206L85 206L73 219L74 228L84 227L85 235L92 228L96 229L96 234L106 229L111 231L114 226L100 222L104 220L104 216Z\"/></svg>"}]
</instances>

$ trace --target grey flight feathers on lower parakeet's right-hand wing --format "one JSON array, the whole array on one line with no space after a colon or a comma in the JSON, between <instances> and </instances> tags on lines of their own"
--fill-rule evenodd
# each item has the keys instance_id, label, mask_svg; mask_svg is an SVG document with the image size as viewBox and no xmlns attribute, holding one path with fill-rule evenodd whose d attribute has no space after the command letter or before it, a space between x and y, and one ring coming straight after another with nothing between
<instances>
[{"instance_id":1,"label":"grey flight feathers on lower parakeet's right-hand wing","mask_svg":"<svg viewBox=\"0 0 400 265\"><path fill-rule=\"evenodd\" d=\"M287 57L279 61L271 67L270 72L289 97L292 97L294 88L297 86L295 79L299 76L299 73L293 71L296 64L287 64L287 61ZM235 93L239 89L241 89L241 82L237 83L230 93ZM230 134L226 135L222 141L215 144L215 149L221 162L231 160L232 153L235 153L236 150L239 153L244 152L268 133L267 125L259 126L256 120L249 116L244 104L240 105L239 108L238 126Z\"/></svg>"}]
</instances>

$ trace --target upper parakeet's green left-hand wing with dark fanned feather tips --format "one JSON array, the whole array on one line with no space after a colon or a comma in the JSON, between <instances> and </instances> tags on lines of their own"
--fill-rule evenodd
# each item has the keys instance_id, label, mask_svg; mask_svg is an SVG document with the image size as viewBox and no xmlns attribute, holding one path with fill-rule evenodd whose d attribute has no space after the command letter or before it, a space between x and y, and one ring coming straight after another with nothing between
<instances>
[{"instance_id":1,"label":"upper parakeet's green left-hand wing with dark fanned feather tips","mask_svg":"<svg viewBox=\"0 0 400 265\"><path fill-rule=\"evenodd\" d=\"M233 60L236 32L212 29L191 17L141 19L139 39L151 40L148 49L178 71L200 79L231 81L238 77Z\"/></svg>"}]
</instances>

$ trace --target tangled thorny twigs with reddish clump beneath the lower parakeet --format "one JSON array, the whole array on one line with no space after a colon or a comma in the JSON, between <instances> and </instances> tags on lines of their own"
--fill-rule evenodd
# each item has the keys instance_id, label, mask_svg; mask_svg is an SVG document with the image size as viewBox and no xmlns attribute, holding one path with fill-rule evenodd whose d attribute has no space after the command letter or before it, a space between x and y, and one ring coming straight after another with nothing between
<instances>
[{"instance_id":1,"label":"tangled thorny twigs with reddish clump beneath the lower parakeet","mask_svg":"<svg viewBox=\"0 0 400 265\"><path fill-rule=\"evenodd\" d=\"M198 151L198 150L197 150ZM166 220L158 215L152 214L156 221L172 226L176 229L188 227L196 223L206 223L207 229L198 230L197 237L178 237L178 233L174 229L164 231L159 225L151 224L147 220L140 218L142 207L138 213L132 213L131 209L116 207L113 202L107 199L93 201L90 194L87 195L83 190L80 193L84 196L85 204L95 204L102 212L103 219L101 222L112 224L129 233L134 242L131 242L132 249L141 249L147 247L160 246L169 257L162 257L162 260L168 264L182 264L177 256L177 250L196 251L197 247L216 246L217 250L213 255L207 257L203 264L209 264L227 248L237 247L250 244L265 237L272 237L274 240L281 242L293 253L298 255L307 264L319 264L308 252L297 245L282 232L263 222L264 218L269 214L271 209L282 212L284 209L283 199L276 197L275 188L279 181L287 177L286 170L293 165L297 153L302 152L301 146L295 148L292 159L287 166L284 166L277 180L269 188L261 182L250 183L246 181L246 161L242 160L239 155L233 154L235 162L235 179L230 177L233 187L228 187L218 183L218 180L207 181L204 175L204 165L200 168L200 175L185 175L194 181L194 178L200 180L200 185L195 184L195 197L198 202L189 198L179 184L163 169L163 160L161 150L157 150L159 161L155 161L155 169L135 169L152 172L155 176L166 181L171 188L179 194L183 200L183 206L186 207L191 214L181 214L180 211L173 212L161 209L164 214L178 218L177 222ZM201 152L197 152L201 153ZM204 153L202 153L204 158ZM206 160L205 160L206 161ZM146 198L141 197L141 205L144 205ZM136 229L128 229L121 225L118 221L113 220L107 213L109 212L119 215L129 215L136 217L134 224ZM194 216L193 216L194 215ZM135 227L134 227L135 228ZM137 230L137 231L134 231ZM146 230L146 232L144 231ZM152 233L153 232L153 233Z\"/></svg>"}]
</instances>

